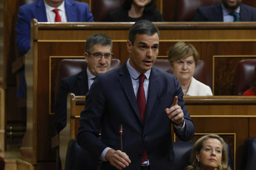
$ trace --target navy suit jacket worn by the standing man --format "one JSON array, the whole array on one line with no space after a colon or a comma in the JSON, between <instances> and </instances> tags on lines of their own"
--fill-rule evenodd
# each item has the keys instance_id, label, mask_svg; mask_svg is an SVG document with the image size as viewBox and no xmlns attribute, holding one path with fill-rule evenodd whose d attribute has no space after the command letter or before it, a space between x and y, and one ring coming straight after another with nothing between
<instances>
[{"instance_id":1,"label":"navy suit jacket worn by the standing man","mask_svg":"<svg viewBox=\"0 0 256 170\"><path fill-rule=\"evenodd\" d=\"M150 169L172 169L172 121L165 108L170 108L174 97L183 109L185 129L177 137L189 141L194 136L194 124L183 100L183 92L176 76L152 67L144 127L134 95L131 76L126 63L104 74L98 74L86 96L80 115L78 144L98 161L106 147L120 150L119 124L123 125L123 152L131 164L125 169L139 169L146 149ZM101 127L101 141L98 139ZM116 169L106 164L109 169Z\"/></svg>"}]
</instances>

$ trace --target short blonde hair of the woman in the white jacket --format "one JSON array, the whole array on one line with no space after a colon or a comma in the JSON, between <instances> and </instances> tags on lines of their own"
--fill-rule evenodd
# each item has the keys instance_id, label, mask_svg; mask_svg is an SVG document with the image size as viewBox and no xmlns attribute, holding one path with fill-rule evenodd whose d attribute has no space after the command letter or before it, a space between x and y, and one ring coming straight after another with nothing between
<instances>
[{"instance_id":1,"label":"short blonde hair of the woman in the white jacket","mask_svg":"<svg viewBox=\"0 0 256 170\"><path fill-rule=\"evenodd\" d=\"M167 52L168 60L172 65L174 61L186 58L190 55L193 55L195 63L197 64L199 54L195 47L182 41L174 44Z\"/></svg>"}]
</instances>

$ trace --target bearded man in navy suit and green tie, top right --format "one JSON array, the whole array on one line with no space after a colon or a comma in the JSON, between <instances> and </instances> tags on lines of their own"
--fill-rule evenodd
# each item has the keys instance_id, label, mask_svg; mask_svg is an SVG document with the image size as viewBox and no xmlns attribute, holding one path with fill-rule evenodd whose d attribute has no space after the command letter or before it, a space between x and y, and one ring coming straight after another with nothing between
<instances>
[{"instance_id":1,"label":"bearded man in navy suit and green tie, top right","mask_svg":"<svg viewBox=\"0 0 256 170\"><path fill-rule=\"evenodd\" d=\"M218 5L199 7L192 21L256 21L256 8L242 0L222 0Z\"/></svg>"}]
</instances>

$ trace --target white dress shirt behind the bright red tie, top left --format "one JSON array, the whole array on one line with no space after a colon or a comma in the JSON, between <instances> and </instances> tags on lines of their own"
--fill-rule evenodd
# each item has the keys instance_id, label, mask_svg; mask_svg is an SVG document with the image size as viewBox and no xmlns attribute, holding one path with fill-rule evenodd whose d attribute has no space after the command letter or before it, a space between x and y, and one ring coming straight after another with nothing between
<instances>
[{"instance_id":1,"label":"white dress shirt behind the bright red tie, top left","mask_svg":"<svg viewBox=\"0 0 256 170\"><path fill-rule=\"evenodd\" d=\"M52 11L55 8L48 5L45 1L44 1L44 3L45 3L47 21L48 22L55 22L55 15L56 14ZM64 3L65 3L65 1L63 1L62 4L57 7L57 9L59 9L58 12L59 12L59 15L60 15L60 18L61 18L61 22L67 22L67 15L66 15Z\"/></svg>"}]
</instances>

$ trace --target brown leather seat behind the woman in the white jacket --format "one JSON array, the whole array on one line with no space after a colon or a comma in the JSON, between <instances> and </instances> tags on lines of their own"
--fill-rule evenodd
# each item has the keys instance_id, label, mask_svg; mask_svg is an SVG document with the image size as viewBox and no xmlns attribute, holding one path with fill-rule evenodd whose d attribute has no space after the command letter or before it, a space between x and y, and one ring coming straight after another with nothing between
<instances>
[{"instance_id":1,"label":"brown leather seat behind the woman in the white jacket","mask_svg":"<svg viewBox=\"0 0 256 170\"><path fill-rule=\"evenodd\" d=\"M156 67L156 68L158 68L162 71L165 71L167 73L173 74L172 65L168 61L168 59L156 59L154 67ZM197 65L196 65L195 73L194 73L193 77L196 80L198 80L199 82L202 82L202 83L209 86L209 84L207 84L205 62L204 61L202 61L202 60L197 61Z\"/></svg>"}]
</instances>

